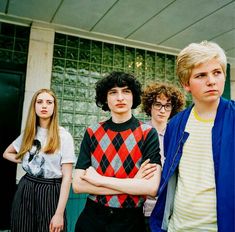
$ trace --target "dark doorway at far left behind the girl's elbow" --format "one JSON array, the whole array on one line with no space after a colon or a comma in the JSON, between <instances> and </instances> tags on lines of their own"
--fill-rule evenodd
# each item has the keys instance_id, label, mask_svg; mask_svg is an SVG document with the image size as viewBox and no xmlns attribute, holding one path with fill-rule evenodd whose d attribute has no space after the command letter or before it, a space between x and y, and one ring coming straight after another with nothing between
<instances>
[{"instance_id":1,"label":"dark doorway at far left behind the girl's elbow","mask_svg":"<svg viewBox=\"0 0 235 232\"><path fill-rule=\"evenodd\" d=\"M23 68L25 70L25 67ZM10 228L11 204L16 190L17 165L3 159L7 146L20 134L25 71L0 67L0 230Z\"/></svg>"}]
</instances>

